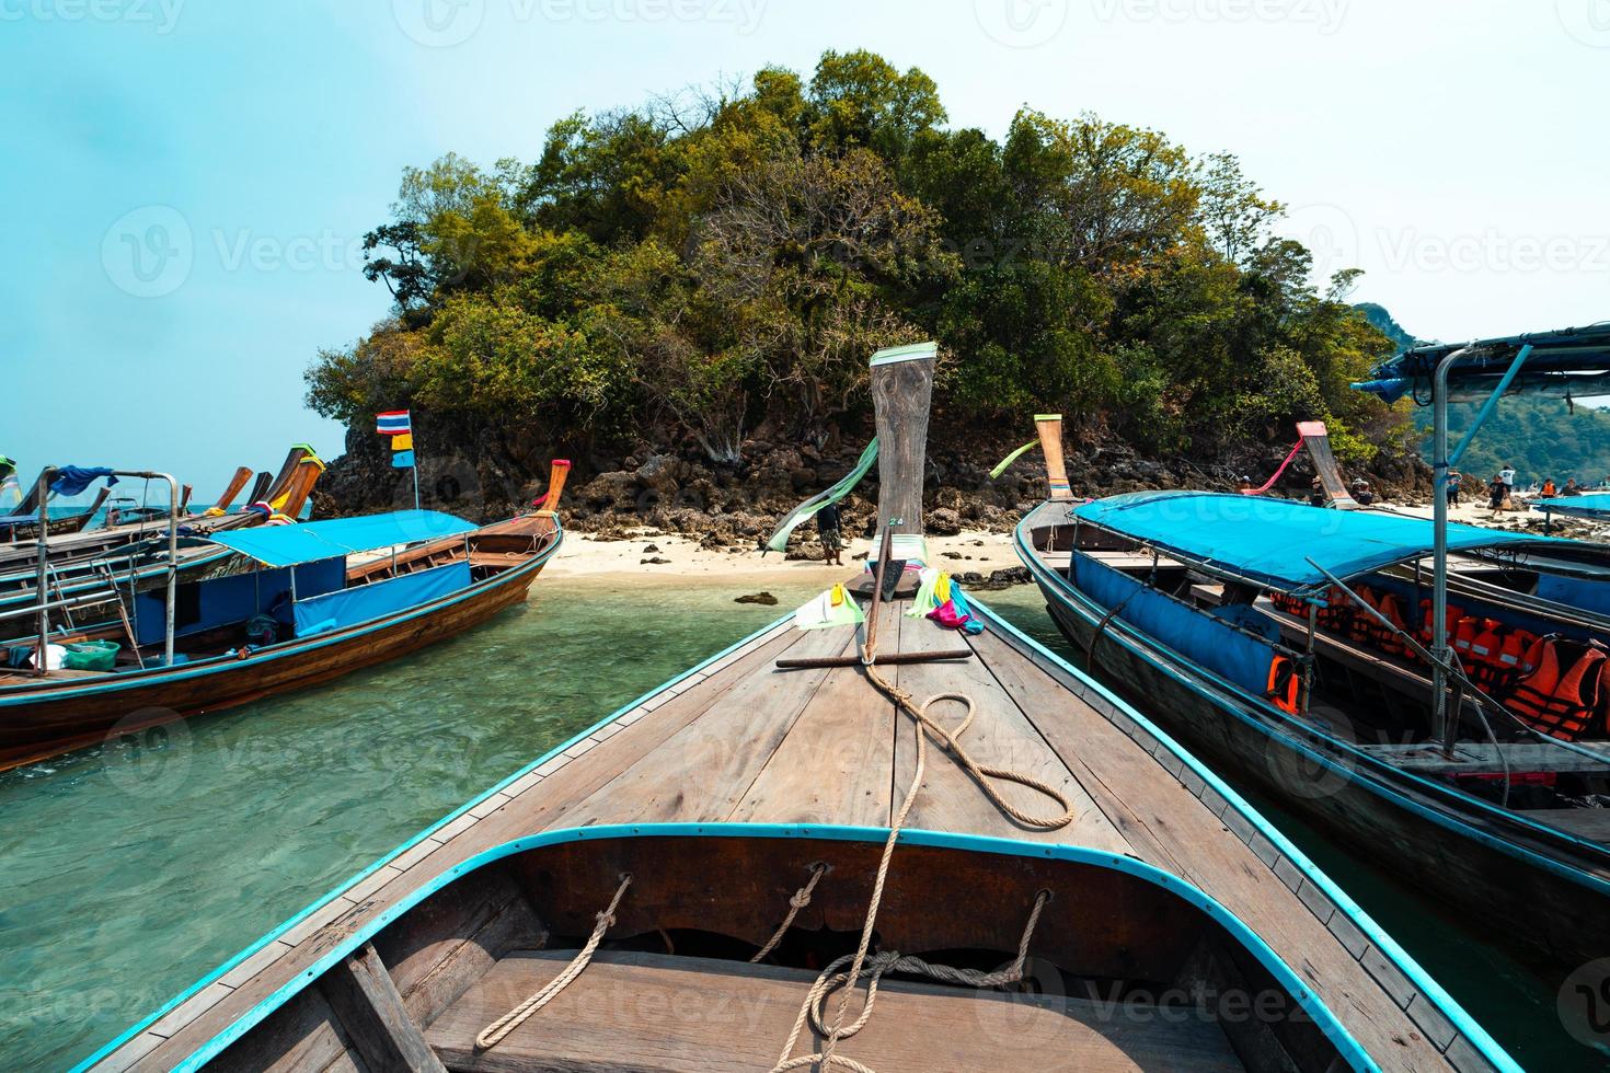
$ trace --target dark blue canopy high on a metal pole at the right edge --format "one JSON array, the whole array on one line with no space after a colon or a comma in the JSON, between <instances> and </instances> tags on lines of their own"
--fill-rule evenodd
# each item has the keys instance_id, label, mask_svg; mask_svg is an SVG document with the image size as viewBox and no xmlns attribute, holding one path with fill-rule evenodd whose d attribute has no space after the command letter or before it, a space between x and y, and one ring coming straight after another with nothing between
<instances>
[{"instance_id":1,"label":"dark blue canopy high on a metal pole at the right edge","mask_svg":"<svg viewBox=\"0 0 1610 1073\"><path fill-rule=\"evenodd\" d=\"M1610 394L1610 323L1558 331L1476 339L1473 343L1428 343L1415 346L1370 370L1370 378L1352 384L1386 402L1409 393L1430 397L1438 364L1457 351L1468 351L1447 372L1451 402L1480 402L1492 394L1523 346L1531 354L1510 381L1507 394L1552 394L1583 399Z\"/></svg>"}]
</instances>

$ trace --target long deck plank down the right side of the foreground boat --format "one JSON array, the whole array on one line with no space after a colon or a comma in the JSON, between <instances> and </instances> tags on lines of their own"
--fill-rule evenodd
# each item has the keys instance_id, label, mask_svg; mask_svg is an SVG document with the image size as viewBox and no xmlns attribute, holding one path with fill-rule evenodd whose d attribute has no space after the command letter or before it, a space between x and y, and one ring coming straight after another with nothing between
<instances>
[{"instance_id":1,"label":"long deck plank down the right side of the foreground boat","mask_svg":"<svg viewBox=\"0 0 1610 1073\"><path fill-rule=\"evenodd\" d=\"M997 653L1009 652L1000 637L984 634L974 645L995 668L1013 666ZM1045 672L1040 672L1045 677ZM1245 825L1225 812L1220 820L1156 758L1098 711L1082 703L1050 705L1045 687L1026 676L1008 689L1040 693L1024 700L1024 711L1046 740L1069 761L1084 763L1087 785L1113 816L1125 816L1125 830L1143 861L1158 864L1217 898L1259 935L1285 962L1325 997L1331 1012L1383 1068L1446 1068L1443 1055L1415 1030L1402 1009L1348 951L1341 939L1302 902L1302 883L1285 857L1275 864L1293 874L1283 880L1253 848L1230 830ZM1145 828L1145 833L1133 827ZM1256 838L1254 838L1256 841ZM1373 948L1367 948L1367 952Z\"/></svg>"}]
</instances>

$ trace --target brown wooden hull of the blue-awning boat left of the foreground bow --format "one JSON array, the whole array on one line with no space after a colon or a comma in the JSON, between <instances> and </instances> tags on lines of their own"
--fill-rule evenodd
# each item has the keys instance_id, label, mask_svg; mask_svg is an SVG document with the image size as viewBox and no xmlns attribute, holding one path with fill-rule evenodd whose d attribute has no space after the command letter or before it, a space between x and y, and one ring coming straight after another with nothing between
<instances>
[{"instance_id":1,"label":"brown wooden hull of the blue-awning boat left of the foreground bow","mask_svg":"<svg viewBox=\"0 0 1610 1073\"><path fill-rule=\"evenodd\" d=\"M462 592L246 660L0 689L0 771L109 737L319 685L485 623L525 600L557 542L538 558Z\"/></svg>"}]
</instances>

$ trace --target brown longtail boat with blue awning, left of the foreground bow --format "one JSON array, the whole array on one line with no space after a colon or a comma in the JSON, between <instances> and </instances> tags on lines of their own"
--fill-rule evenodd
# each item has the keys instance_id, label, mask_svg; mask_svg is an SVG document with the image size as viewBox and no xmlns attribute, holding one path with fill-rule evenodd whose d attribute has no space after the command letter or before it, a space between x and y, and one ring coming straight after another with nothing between
<instances>
[{"instance_id":1,"label":"brown longtail boat with blue awning, left of the foreground bow","mask_svg":"<svg viewBox=\"0 0 1610 1073\"><path fill-rule=\"evenodd\" d=\"M172 603L164 590L140 592L113 669L0 674L0 769L460 634L525 598L562 529L552 510L480 528L407 510L213 539L259 568L179 584Z\"/></svg>"}]
</instances>

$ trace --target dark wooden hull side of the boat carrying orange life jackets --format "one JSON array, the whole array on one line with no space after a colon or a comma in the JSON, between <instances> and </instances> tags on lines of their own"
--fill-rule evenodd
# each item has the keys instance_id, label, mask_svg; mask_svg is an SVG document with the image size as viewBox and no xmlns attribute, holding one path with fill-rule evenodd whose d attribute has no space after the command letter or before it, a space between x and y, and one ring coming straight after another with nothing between
<instances>
[{"instance_id":1,"label":"dark wooden hull side of the boat carrying orange life jackets","mask_svg":"<svg viewBox=\"0 0 1610 1073\"><path fill-rule=\"evenodd\" d=\"M1019 534L1058 629L1088 655L1090 671L1230 780L1278 801L1381 869L1412 877L1483 941L1558 980L1604 957L1605 894L1568 862L1542 861L1449 816L1412 788L1388 783L1317 737L1278 732L1232 690L1140 643L1106 608L1037 560ZM1525 927L1517 927L1525 922Z\"/></svg>"}]
</instances>

